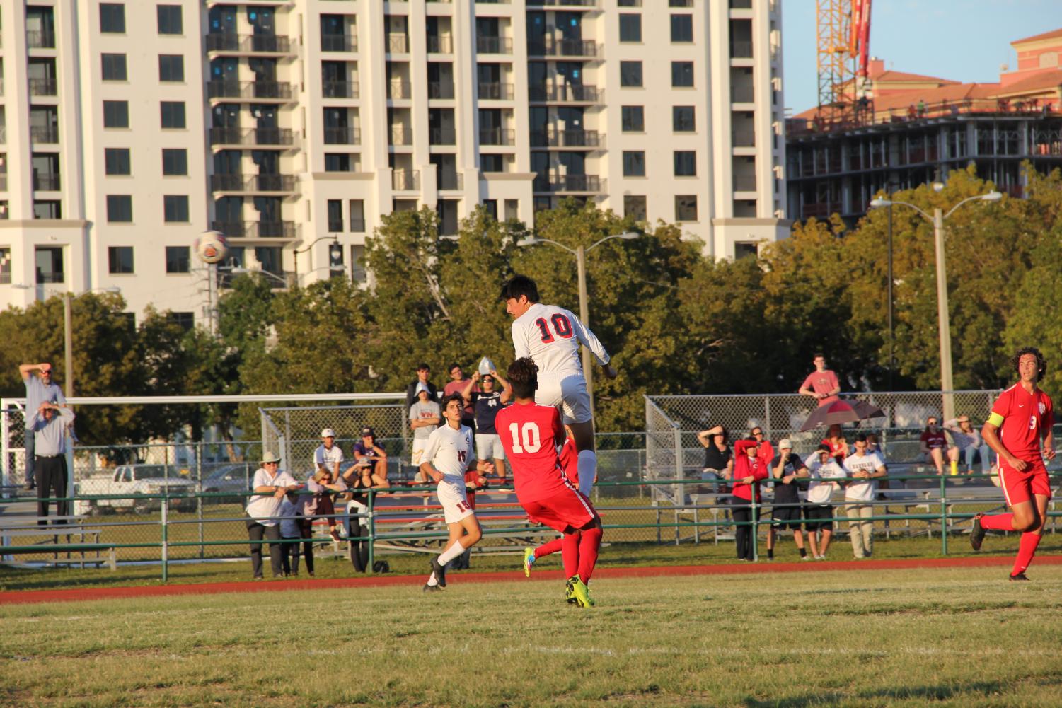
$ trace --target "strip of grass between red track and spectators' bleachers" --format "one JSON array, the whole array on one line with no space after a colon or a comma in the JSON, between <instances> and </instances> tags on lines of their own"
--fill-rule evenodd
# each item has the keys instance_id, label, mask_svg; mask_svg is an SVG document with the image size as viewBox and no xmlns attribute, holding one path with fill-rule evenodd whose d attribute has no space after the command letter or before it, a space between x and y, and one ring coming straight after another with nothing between
<instances>
[{"instance_id":1,"label":"strip of grass between red track and spectators' bleachers","mask_svg":"<svg viewBox=\"0 0 1062 708\"><path fill-rule=\"evenodd\" d=\"M607 532L606 532L607 534ZM605 536L607 542L607 535ZM946 557L965 557L972 555L1013 556L1017 551L1018 536L1007 537L990 534L984 548L979 554L970 549L966 536L948 538L949 553ZM766 543L760 539L760 563L766 564ZM1047 534L1038 549L1038 555L1062 553L1062 535ZM391 572L396 575L426 575L428 558L426 553L394 554L378 556L387 559ZM781 563L800 559L792 538L777 541L775 557ZM875 538L875 558L932 558L944 557L940 553L940 538L893 538L885 540ZM838 533L829 547L830 560L849 560L852 558L852 546L847 533ZM353 577L355 576L350 562L346 557L316 557L315 577ZM690 542L675 546L673 543L612 543L601 551L599 567L624 568L644 566L688 566L718 565L735 562L733 541L721 541L718 546L712 542L693 545ZM266 560L268 564L268 559ZM541 559L541 568L560 569L560 555ZM813 564L815 562L808 562ZM1033 562L1035 568L1035 562ZM474 553L472 556L473 571L512 571L523 572L519 554L513 553ZM301 577L308 577L305 568ZM268 568L267 568L268 572ZM452 571L453 577L460 577L460 571ZM170 582L177 583L230 583L251 580L251 560L235 560L230 563L193 563L172 564L169 569ZM274 582L274 581L269 581ZM275 581L284 582L284 581ZM18 590L55 590L63 588L92 588L161 585L161 568L159 566L119 566L112 572L105 568L47 568L27 569L0 565L0 591Z\"/></svg>"}]
</instances>

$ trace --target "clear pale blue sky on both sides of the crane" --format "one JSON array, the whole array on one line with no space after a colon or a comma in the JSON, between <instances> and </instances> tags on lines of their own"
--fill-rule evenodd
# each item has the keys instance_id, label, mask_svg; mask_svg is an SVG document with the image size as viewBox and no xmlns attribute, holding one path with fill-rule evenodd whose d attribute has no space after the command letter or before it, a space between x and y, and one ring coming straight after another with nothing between
<instances>
[{"instance_id":1,"label":"clear pale blue sky on both sides of the crane","mask_svg":"<svg viewBox=\"0 0 1062 708\"><path fill-rule=\"evenodd\" d=\"M998 81L1016 68L1010 42L1062 28L1062 0L873 0L870 54L887 69L960 82ZM782 0L788 115L815 106L815 0Z\"/></svg>"}]
</instances>

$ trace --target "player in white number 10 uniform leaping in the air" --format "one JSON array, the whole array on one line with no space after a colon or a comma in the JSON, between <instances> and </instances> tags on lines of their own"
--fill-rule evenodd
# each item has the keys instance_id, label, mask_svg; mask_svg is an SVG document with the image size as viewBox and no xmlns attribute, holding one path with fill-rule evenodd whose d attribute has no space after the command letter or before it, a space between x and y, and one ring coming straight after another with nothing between
<instances>
[{"instance_id":1,"label":"player in white number 10 uniform leaping in the air","mask_svg":"<svg viewBox=\"0 0 1062 708\"><path fill-rule=\"evenodd\" d=\"M604 375L614 379L616 369L609 363L609 352L571 312L539 303L538 287L527 276L517 275L502 286L501 299L506 312L515 321L512 333L516 359L530 357L538 367L535 403L561 409L561 418L571 429L579 451L579 490L589 497L597 478L597 452L579 345L587 347L604 367Z\"/></svg>"}]
</instances>

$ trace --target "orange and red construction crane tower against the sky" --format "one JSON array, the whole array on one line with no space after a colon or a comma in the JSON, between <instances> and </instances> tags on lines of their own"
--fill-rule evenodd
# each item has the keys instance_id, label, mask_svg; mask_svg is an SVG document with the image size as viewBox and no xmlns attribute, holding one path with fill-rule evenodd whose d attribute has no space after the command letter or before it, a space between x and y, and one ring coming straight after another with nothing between
<instances>
[{"instance_id":1,"label":"orange and red construction crane tower against the sky","mask_svg":"<svg viewBox=\"0 0 1062 708\"><path fill-rule=\"evenodd\" d=\"M819 117L858 122L869 107L871 0L816 0Z\"/></svg>"}]
</instances>

